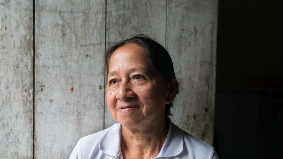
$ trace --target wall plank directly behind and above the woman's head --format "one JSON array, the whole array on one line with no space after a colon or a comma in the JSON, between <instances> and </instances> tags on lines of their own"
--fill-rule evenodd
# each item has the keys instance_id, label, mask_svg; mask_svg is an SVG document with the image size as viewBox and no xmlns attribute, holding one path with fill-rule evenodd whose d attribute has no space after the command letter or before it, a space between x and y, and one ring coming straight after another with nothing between
<instances>
[{"instance_id":1,"label":"wall plank directly behind and above the woman's head","mask_svg":"<svg viewBox=\"0 0 283 159\"><path fill-rule=\"evenodd\" d=\"M106 23L107 43L145 34L165 45L166 0L108 0ZM115 123L105 98L105 128Z\"/></svg>"}]
</instances>

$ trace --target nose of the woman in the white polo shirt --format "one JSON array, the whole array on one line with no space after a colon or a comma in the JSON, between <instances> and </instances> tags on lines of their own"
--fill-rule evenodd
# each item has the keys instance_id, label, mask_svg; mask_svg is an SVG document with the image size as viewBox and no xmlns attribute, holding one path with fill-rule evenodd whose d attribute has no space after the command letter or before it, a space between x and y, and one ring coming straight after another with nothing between
<instances>
[{"instance_id":1,"label":"nose of the woman in the white polo shirt","mask_svg":"<svg viewBox=\"0 0 283 159\"><path fill-rule=\"evenodd\" d=\"M116 98L120 100L127 100L133 98L135 95L132 90L132 84L129 82L121 82L119 87L119 92L116 94Z\"/></svg>"}]
</instances>

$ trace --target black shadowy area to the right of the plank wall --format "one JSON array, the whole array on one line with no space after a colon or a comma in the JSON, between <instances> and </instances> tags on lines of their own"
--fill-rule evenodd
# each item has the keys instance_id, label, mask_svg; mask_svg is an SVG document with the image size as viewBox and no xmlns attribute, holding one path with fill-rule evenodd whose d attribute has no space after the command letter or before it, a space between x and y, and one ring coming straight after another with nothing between
<instances>
[{"instance_id":1,"label":"black shadowy area to the right of the plank wall","mask_svg":"<svg viewBox=\"0 0 283 159\"><path fill-rule=\"evenodd\" d=\"M283 1L219 0L219 158L283 158Z\"/></svg>"}]
</instances>

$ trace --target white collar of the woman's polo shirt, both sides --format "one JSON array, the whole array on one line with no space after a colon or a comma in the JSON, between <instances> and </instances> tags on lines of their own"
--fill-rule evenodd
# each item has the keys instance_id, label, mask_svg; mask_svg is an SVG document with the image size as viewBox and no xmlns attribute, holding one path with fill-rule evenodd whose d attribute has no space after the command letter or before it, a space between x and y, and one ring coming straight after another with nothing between
<instances>
[{"instance_id":1,"label":"white collar of the woman's polo shirt, both sides","mask_svg":"<svg viewBox=\"0 0 283 159\"><path fill-rule=\"evenodd\" d=\"M173 124L170 118L166 119L169 123L169 130L165 142L161 148L158 157L173 157L183 151L183 134L181 129ZM121 124L117 123L110 127L109 131L101 138L99 142L100 150L110 156L120 155L120 131Z\"/></svg>"}]
</instances>

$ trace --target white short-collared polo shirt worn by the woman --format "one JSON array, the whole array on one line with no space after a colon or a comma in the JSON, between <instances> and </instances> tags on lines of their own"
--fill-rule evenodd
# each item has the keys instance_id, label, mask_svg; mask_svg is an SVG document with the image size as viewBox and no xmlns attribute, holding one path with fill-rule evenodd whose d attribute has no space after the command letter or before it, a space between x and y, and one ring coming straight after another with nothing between
<instances>
[{"instance_id":1,"label":"white short-collared polo shirt worn by the woman","mask_svg":"<svg viewBox=\"0 0 283 159\"><path fill-rule=\"evenodd\" d=\"M214 148L169 122L166 140L152 159L219 159ZM123 159L120 150L121 124L79 140L69 159Z\"/></svg>"}]
</instances>

